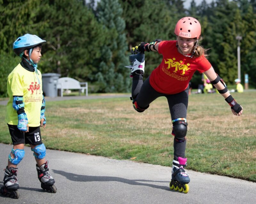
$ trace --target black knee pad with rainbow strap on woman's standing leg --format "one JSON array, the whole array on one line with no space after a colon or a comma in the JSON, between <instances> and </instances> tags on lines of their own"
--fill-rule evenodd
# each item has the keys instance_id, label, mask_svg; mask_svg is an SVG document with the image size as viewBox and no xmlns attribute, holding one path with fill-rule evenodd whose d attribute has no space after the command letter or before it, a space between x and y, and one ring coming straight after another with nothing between
<instances>
[{"instance_id":1,"label":"black knee pad with rainbow strap on woman's standing leg","mask_svg":"<svg viewBox=\"0 0 256 204\"><path fill-rule=\"evenodd\" d=\"M172 135L175 137L176 141L184 142L186 140L187 125L186 118L172 120Z\"/></svg>"}]
</instances>

